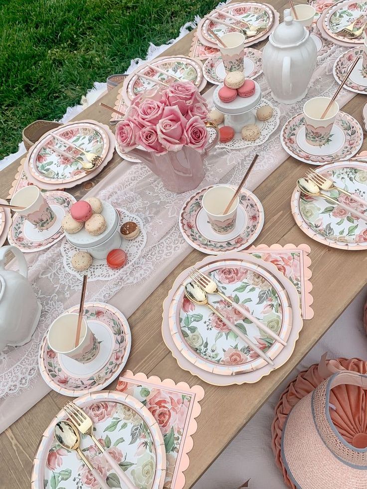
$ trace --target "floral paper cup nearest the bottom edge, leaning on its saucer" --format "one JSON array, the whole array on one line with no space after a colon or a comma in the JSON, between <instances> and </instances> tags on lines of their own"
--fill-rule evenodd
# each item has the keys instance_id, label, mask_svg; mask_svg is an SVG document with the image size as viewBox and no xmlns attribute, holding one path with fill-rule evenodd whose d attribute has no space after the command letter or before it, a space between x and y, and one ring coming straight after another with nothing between
<instances>
[{"instance_id":1,"label":"floral paper cup nearest the bottom edge, leaning on its saucer","mask_svg":"<svg viewBox=\"0 0 367 489\"><path fill-rule=\"evenodd\" d=\"M50 326L47 333L47 341L50 348L56 353L61 353L81 363L92 361L99 352L99 342L82 319L80 340L78 346L74 346L78 314L67 313L59 316Z\"/></svg>"}]
</instances>

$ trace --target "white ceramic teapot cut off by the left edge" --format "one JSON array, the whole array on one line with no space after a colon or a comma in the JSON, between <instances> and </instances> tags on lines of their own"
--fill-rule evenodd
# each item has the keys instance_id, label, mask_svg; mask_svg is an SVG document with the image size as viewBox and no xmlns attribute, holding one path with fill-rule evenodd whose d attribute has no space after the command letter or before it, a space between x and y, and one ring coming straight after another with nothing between
<instances>
[{"instance_id":1,"label":"white ceramic teapot cut off by the left edge","mask_svg":"<svg viewBox=\"0 0 367 489\"><path fill-rule=\"evenodd\" d=\"M11 251L19 272L5 270L5 254ZM0 352L6 345L27 343L38 325L41 305L27 280L27 263L18 248L0 248Z\"/></svg>"}]
</instances>

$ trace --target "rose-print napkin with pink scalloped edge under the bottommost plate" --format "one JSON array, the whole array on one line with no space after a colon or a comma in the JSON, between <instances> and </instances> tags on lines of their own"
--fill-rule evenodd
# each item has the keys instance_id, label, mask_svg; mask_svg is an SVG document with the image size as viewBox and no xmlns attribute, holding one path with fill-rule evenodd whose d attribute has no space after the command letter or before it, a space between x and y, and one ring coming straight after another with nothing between
<instances>
[{"instance_id":1,"label":"rose-print napkin with pink scalloped edge under the bottommost plate","mask_svg":"<svg viewBox=\"0 0 367 489\"><path fill-rule=\"evenodd\" d=\"M204 389L200 385L190 387L186 382L176 384L172 379L148 378L142 372L134 375L131 370L122 372L116 389L142 402L157 420L167 454L164 487L182 489L184 471L190 462L187 454L193 447L192 435L197 429L195 418L201 411L199 401L204 397Z\"/></svg>"}]
</instances>

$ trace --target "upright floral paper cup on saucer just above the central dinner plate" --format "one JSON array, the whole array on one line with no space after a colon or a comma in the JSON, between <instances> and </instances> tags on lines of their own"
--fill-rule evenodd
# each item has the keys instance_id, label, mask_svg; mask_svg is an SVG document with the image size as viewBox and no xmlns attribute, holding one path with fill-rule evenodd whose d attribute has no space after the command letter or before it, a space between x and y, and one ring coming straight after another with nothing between
<instances>
[{"instance_id":1,"label":"upright floral paper cup on saucer just above the central dinner plate","mask_svg":"<svg viewBox=\"0 0 367 489\"><path fill-rule=\"evenodd\" d=\"M202 196L202 207L208 216L211 228L218 234L228 234L236 225L238 197L235 198L229 211L223 214L233 194L233 188L216 185L206 190Z\"/></svg>"}]
</instances>

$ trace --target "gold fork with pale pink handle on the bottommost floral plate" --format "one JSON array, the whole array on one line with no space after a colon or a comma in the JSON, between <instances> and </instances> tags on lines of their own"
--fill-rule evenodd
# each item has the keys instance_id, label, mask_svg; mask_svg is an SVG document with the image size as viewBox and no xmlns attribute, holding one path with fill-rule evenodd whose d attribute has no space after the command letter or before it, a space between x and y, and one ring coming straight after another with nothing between
<instances>
[{"instance_id":1,"label":"gold fork with pale pink handle on the bottommost floral plate","mask_svg":"<svg viewBox=\"0 0 367 489\"><path fill-rule=\"evenodd\" d=\"M103 447L94 436L93 423L90 417L73 402L68 402L63 409L65 413L69 416L71 421L78 428L80 433L83 433L84 435L89 435L92 438L93 442L101 451L102 455L107 459L111 467L117 472L117 475L119 475L121 482L123 482L128 489L137 489L137 487L134 486L134 484L130 481L125 472L121 469L116 460L111 457L106 448Z\"/></svg>"}]
</instances>

